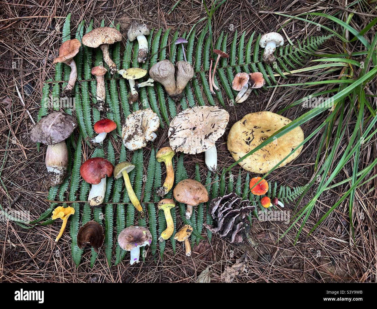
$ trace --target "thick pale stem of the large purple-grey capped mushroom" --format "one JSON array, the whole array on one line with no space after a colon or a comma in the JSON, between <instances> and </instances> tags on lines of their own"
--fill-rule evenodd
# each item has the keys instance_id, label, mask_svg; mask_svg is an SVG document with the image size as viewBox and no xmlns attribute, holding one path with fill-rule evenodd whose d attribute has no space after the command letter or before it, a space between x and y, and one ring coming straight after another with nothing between
<instances>
[{"instance_id":1,"label":"thick pale stem of the large purple-grey capped mushroom","mask_svg":"<svg viewBox=\"0 0 377 309\"><path fill-rule=\"evenodd\" d=\"M46 168L51 186L63 183L67 176L68 150L65 141L48 145L46 151Z\"/></svg>"}]
</instances>

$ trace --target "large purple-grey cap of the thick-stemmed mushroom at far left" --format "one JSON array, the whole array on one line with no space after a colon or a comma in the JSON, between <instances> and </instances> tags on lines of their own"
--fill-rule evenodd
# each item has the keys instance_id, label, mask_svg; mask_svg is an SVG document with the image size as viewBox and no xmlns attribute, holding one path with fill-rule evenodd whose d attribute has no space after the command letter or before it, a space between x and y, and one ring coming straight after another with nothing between
<instances>
[{"instance_id":1,"label":"large purple-grey cap of the thick-stemmed mushroom at far left","mask_svg":"<svg viewBox=\"0 0 377 309\"><path fill-rule=\"evenodd\" d=\"M76 128L75 117L63 112L52 112L32 127L30 139L46 145L54 145L66 140Z\"/></svg>"}]
</instances>

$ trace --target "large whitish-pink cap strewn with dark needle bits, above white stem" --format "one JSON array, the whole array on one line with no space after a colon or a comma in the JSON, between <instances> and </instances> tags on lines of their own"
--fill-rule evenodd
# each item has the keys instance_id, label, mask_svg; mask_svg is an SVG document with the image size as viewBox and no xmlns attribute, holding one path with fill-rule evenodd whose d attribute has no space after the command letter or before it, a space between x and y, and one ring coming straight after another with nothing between
<instances>
[{"instance_id":1,"label":"large whitish-pink cap strewn with dark needle bits, above white stem","mask_svg":"<svg viewBox=\"0 0 377 309\"><path fill-rule=\"evenodd\" d=\"M224 134L228 121L229 113L217 106L187 108L170 122L170 147L185 154L206 151Z\"/></svg>"}]
</instances>

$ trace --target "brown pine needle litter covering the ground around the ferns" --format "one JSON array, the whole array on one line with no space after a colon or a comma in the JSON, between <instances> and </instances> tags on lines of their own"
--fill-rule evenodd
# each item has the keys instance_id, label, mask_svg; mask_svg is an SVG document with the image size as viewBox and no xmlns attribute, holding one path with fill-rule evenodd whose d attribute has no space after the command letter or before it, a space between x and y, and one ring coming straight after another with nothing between
<instances>
[{"instance_id":1,"label":"brown pine needle litter covering the ground around the ferns","mask_svg":"<svg viewBox=\"0 0 377 309\"><path fill-rule=\"evenodd\" d=\"M352 18L351 26L361 31L377 16L375 3L365 3L364 8L360 7L361 4L346 8L349 2L348 0L324 2L228 0L213 14L212 37L216 40L221 31L228 33L230 38L233 37L235 30L239 35L246 31L246 38L250 37L253 31L256 33L277 31L288 18L274 14L275 12L287 15L308 11L321 12L336 15L342 20L346 20L349 14L355 14L357 18ZM72 38L83 19L87 21L93 19L94 26L99 26L102 19L105 20L105 25L110 25L112 22L120 23L123 35L133 21L146 23L149 28L164 30L170 28L171 34L177 29L182 33L188 32L195 23L198 23L196 31L199 33L206 25L206 21L201 19L207 17L202 2L181 1L170 14L167 14L175 3L176 1L120 0L111 6L110 2L95 0L74 2L46 0L43 5L20 0L1 2L0 204L3 208L30 211L31 219L34 220L50 205L46 200L48 188L44 184L45 147L41 146L41 151L38 152L36 144L29 139L29 132L33 120L37 121L43 84L49 78L54 78L52 60L58 54L61 45L61 31L67 13L72 13L70 25ZM370 9L367 9L368 6ZM316 23L326 25L340 34L343 31L338 24L324 17L313 18ZM375 31L374 25L364 35L369 43ZM329 34L325 29L318 31L316 25L298 19L291 21L280 33L293 41L303 40L310 35ZM349 34L346 33L345 36L347 35ZM172 35L169 43L171 40ZM231 39L228 39L228 51L230 44ZM341 54L345 51L355 53L361 50L363 50L362 45L343 43L339 38L331 38L320 46L320 52L323 54ZM358 59L361 60L363 59ZM314 63L316 64L318 63ZM311 65L313 62L305 63L305 66ZM356 66L353 68L357 76L360 69ZM276 79L278 84L284 85L313 81L314 75L319 77L315 80L325 79L331 74L333 78L340 78L343 71L338 69L328 72L328 69L318 69L314 72L289 75L288 80L283 80L280 76ZM274 87L268 88L267 91L259 91L259 96L251 94L248 100L237 107L225 102L226 109L230 113L227 132L245 114L264 110L277 112L295 100L314 92L325 91L330 86L319 84L314 87ZM371 96L369 103L374 109L377 105L376 89L376 78L374 78L366 90ZM180 110L181 107L177 103L177 111ZM284 116L295 119L304 112L305 110L298 105L285 111ZM326 116L324 112L305 123L302 126L305 137L313 132L313 128L317 128ZM356 115L351 113L349 117L348 123L345 122L344 126L349 127L347 132L351 134ZM333 133L335 135L335 132ZM296 160L284 168L277 169L267 179L290 187L310 182L322 134L323 131L320 131L311 138ZM164 130L160 129L158 135L155 146L160 148L167 145L167 127ZM234 162L227 151L226 136L227 133L219 140L217 146L220 171ZM118 144L112 137L108 138L117 149ZM342 150L342 145L348 144L348 138L348 134L342 136L337 154ZM120 143L120 140L121 138L118 137L117 143ZM329 147L333 145L331 137L328 145ZM149 149L150 145L144 152L144 170L148 166ZM325 150L323 149L319 162L325 160L323 156ZM83 145L84 157L85 154L89 157L91 151ZM119 149L116 154L119 156ZM337 154L334 164L337 164L336 160L339 157ZM362 170L377 157L377 139L374 137L365 143L359 155L359 170ZM204 155L185 156L184 164L190 178L194 178L196 162L199 162L201 178L204 180L207 172ZM353 160L348 161L337 176L336 182L352 176L353 162ZM234 175L238 175L239 166L235 166L232 170ZM369 177L376 173L377 169L374 166ZM246 174L246 171L242 172L243 180ZM254 218L250 229L252 241L231 245L214 235L210 244L202 244L207 241L206 231L203 229L204 241L201 241L200 246L193 245L191 257L185 256L181 243L176 244L176 254L173 254L171 243L167 241L163 260L159 256L159 251L152 256L150 249L147 249L146 261L133 266L129 265L126 257L117 266L109 267L102 248L93 269L90 269L90 250L84 252L80 266L76 267L71 257L69 229L66 229L58 243L54 243L61 222L23 229L12 221L2 220L0 221L0 282L195 282L207 266L210 266L211 282L221 282L221 274L225 269L230 268L246 251L248 265L244 271L235 275L233 282L376 282L376 179L356 189L353 204L354 238L350 235L348 198L307 237L308 232L322 215L349 189L347 181L320 196L296 245L294 239L300 227L299 223L278 241L289 224L282 221L258 222ZM310 189L298 205L298 209L305 206L312 197L313 190ZM291 215L294 206L292 203L287 207ZM178 217L177 228L180 228L182 223Z\"/></svg>"}]
</instances>

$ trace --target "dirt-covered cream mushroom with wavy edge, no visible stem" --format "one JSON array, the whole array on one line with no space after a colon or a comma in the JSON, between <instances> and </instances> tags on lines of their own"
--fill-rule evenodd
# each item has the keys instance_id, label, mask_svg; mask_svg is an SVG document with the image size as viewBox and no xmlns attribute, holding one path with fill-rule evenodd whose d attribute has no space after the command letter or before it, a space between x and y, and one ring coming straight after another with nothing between
<instances>
[{"instance_id":1,"label":"dirt-covered cream mushroom with wavy edge, no visible stem","mask_svg":"<svg viewBox=\"0 0 377 309\"><path fill-rule=\"evenodd\" d=\"M150 108L139 109L126 118L122 128L123 144L130 150L147 146L147 141L154 141L160 120Z\"/></svg>"}]
</instances>

